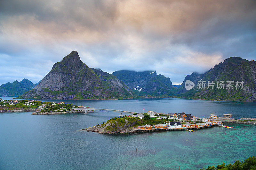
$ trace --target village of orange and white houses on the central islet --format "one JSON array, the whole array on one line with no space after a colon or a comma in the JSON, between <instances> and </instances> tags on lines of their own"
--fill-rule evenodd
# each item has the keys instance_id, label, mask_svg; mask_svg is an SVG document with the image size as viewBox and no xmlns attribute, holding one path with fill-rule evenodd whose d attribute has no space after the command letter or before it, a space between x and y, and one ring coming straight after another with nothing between
<instances>
[{"instance_id":1,"label":"village of orange and white houses on the central islet","mask_svg":"<svg viewBox=\"0 0 256 170\"><path fill-rule=\"evenodd\" d=\"M213 126L223 126L222 122L219 119L232 119L231 114L224 114L221 117L217 117L215 114L211 114L209 118L198 118L190 114L185 113L169 113L165 114L166 116L161 116L154 111L148 111L146 114L150 116L151 119L166 119L164 124L155 124L155 125L141 125L137 126L135 129L137 132L147 132L147 131L161 131L161 130L188 130L193 131L192 129L203 129ZM142 114L135 114L132 117L138 117L140 119L144 118Z\"/></svg>"}]
</instances>

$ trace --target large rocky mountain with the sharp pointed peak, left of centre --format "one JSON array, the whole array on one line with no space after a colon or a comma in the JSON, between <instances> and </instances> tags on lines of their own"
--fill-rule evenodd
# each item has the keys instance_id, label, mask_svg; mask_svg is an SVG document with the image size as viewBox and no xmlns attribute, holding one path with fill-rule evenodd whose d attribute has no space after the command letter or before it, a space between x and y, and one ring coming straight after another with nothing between
<instances>
[{"instance_id":1,"label":"large rocky mountain with the sharp pointed peak, left of centre","mask_svg":"<svg viewBox=\"0 0 256 170\"><path fill-rule=\"evenodd\" d=\"M71 52L32 90L19 99L123 99L136 96L115 76L89 68Z\"/></svg>"}]
</instances>

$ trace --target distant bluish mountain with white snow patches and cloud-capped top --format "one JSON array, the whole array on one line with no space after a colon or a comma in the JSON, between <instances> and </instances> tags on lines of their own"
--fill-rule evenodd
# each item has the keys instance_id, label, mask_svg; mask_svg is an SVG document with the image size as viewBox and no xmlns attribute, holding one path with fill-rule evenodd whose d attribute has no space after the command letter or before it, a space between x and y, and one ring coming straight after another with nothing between
<instances>
[{"instance_id":1,"label":"distant bluish mountain with white snow patches and cloud-capped top","mask_svg":"<svg viewBox=\"0 0 256 170\"><path fill-rule=\"evenodd\" d=\"M118 80L124 82L137 95L159 96L171 93L173 89L170 78L156 75L156 71L119 70L112 73Z\"/></svg>"}]
</instances>

